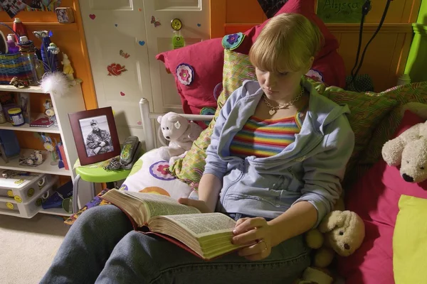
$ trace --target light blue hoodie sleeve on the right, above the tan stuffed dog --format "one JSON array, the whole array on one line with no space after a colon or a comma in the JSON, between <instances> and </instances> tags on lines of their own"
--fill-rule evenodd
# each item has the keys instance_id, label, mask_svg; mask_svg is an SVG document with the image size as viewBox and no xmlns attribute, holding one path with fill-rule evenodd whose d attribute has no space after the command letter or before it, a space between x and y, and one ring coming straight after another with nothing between
<instances>
[{"instance_id":1,"label":"light blue hoodie sleeve on the right, above the tan stuffed dog","mask_svg":"<svg viewBox=\"0 0 427 284\"><path fill-rule=\"evenodd\" d=\"M307 158L302 164L305 185L301 190L302 196L295 202L307 201L317 209L315 226L332 211L341 195L341 181L354 148L354 133L344 115L328 125L325 134L325 150Z\"/></svg>"}]
</instances>

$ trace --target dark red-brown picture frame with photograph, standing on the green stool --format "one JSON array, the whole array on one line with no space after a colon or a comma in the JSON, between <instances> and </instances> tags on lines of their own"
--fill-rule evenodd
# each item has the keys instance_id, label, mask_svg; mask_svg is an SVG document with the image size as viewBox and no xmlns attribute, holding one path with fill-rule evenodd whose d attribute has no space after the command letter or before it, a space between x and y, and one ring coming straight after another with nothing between
<instances>
[{"instance_id":1,"label":"dark red-brown picture frame with photograph, standing on the green stool","mask_svg":"<svg viewBox=\"0 0 427 284\"><path fill-rule=\"evenodd\" d=\"M68 114L80 165L120 155L120 141L111 107Z\"/></svg>"}]
</instances>

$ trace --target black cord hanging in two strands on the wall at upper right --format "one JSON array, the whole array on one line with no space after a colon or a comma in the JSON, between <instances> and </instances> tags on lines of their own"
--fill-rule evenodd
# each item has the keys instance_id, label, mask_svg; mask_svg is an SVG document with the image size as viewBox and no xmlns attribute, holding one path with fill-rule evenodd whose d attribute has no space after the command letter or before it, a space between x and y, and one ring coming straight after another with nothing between
<instances>
[{"instance_id":1,"label":"black cord hanging in two strands on the wall at upper right","mask_svg":"<svg viewBox=\"0 0 427 284\"><path fill-rule=\"evenodd\" d=\"M376 35L381 30L381 27L382 27L382 25L386 19L386 16L387 16L387 12L389 11L389 6L390 6L391 1L392 0L387 0L386 7L384 8L384 12L381 16L381 21L379 21L379 24L378 24L378 27L376 28L376 31L374 32L374 34L369 39L367 45L365 45L365 48L364 48L363 53L362 53L362 57L360 58L359 66L357 66L357 62L359 61L360 48L362 47L362 33L363 33L364 18L365 18L365 16L367 16L367 13L371 10L371 1L369 1L369 0L365 1L364 5L362 6L362 20L360 22L360 29L359 29L359 45L357 47L356 62L354 63L354 67L352 69L352 81L349 84L349 85L353 84L354 89L356 89L357 92L359 92L359 89L357 88L357 84L355 82L355 79L357 77L357 74L360 71L360 68L362 68L364 56L367 52L367 48L369 47L369 44L371 44L372 40L374 40ZM356 72L354 72L354 68L356 68L356 67L357 67L357 70L356 70Z\"/></svg>"}]
</instances>

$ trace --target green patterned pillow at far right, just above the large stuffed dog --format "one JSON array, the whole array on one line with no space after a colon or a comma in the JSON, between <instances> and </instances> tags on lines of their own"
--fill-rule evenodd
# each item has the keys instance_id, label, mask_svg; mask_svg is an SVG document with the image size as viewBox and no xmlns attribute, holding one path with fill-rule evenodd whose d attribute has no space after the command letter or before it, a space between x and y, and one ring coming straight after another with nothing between
<instances>
[{"instance_id":1,"label":"green patterned pillow at far right, just above the large stuffed dog","mask_svg":"<svg viewBox=\"0 0 427 284\"><path fill-rule=\"evenodd\" d=\"M372 133L371 141L359 163L373 165L381 156L381 149L384 143L390 139L401 122L401 107L408 102L421 102L427 104L427 82L406 84L387 89L378 95L394 99L398 102L388 116L385 116L381 123Z\"/></svg>"}]
</instances>

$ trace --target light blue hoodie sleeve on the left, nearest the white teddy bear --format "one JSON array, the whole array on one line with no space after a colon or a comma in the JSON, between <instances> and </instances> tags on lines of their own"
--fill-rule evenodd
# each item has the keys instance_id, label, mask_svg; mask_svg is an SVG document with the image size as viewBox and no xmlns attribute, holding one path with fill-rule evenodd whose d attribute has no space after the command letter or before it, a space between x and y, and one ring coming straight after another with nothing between
<instances>
[{"instance_id":1,"label":"light blue hoodie sleeve on the left, nearest the white teddy bear","mask_svg":"<svg viewBox=\"0 0 427 284\"><path fill-rule=\"evenodd\" d=\"M223 176L226 174L228 163L223 161L218 156L219 138L223 131L223 126L226 123L228 115L238 100L241 99L243 94L246 94L246 87L244 83L242 87L236 89L236 91L234 91L230 97L228 97L226 103L221 108L221 111L219 112L218 118L215 122L214 131L212 131L211 143L206 149L206 165L204 174L210 173L215 175L220 180L223 180Z\"/></svg>"}]
</instances>

